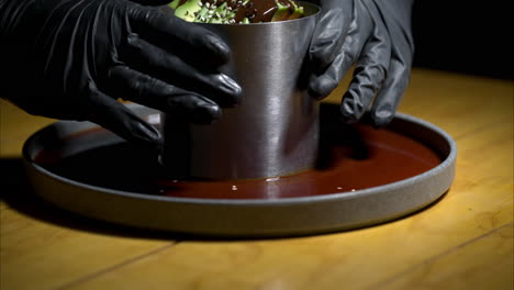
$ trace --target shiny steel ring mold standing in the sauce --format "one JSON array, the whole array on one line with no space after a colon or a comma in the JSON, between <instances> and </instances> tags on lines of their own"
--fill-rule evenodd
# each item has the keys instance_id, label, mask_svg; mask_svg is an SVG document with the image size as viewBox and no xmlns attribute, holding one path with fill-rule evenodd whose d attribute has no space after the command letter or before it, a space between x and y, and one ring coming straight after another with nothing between
<instances>
[{"instance_id":1,"label":"shiny steel ring mold standing in the sauce","mask_svg":"<svg viewBox=\"0 0 514 290\"><path fill-rule=\"evenodd\" d=\"M243 88L242 103L210 125L163 113L161 161L170 171L208 179L284 176L311 169L319 146L319 104L301 70L320 9L306 16L255 24L200 24L232 48L221 68Z\"/></svg>"}]
</instances>

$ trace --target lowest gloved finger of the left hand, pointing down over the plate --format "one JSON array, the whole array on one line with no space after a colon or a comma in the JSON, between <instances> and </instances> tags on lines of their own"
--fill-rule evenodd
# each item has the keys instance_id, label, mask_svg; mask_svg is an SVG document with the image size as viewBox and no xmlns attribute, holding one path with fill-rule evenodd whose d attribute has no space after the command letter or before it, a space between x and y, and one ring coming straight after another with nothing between
<instances>
[{"instance_id":1,"label":"lowest gloved finger of the left hand, pointing down over the plate","mask_svg":"<svg viewBox=\"0 0 514 290\"><path fill-rule=\"evenodd\" d=\"M160 133L139 119L125 105L98 90L93 85L88 86L87 120L105 127L122 138L149 147L158 147L161 142Z\"/></svg>"}]
</instances>

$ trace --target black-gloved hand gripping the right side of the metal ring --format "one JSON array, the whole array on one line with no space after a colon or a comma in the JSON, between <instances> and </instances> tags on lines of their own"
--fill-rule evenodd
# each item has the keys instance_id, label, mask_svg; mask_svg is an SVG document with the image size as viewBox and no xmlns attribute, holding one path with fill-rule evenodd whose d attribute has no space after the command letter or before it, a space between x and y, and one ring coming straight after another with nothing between
<instances>
[{"instance_id":1,"label":"black-gloved hand gripping the right side of the metal ring","mask_svg":"<svg viewBox=\"0 0 514 290\"><path fill-rule=\"evenodd\" d=\"M413 0L321 0L310 58L309 92L323 99L355 64L340 112L348 121L370 110L377 126L394 116L409 83L414 45Z\"/></svg>"}]
</instances>

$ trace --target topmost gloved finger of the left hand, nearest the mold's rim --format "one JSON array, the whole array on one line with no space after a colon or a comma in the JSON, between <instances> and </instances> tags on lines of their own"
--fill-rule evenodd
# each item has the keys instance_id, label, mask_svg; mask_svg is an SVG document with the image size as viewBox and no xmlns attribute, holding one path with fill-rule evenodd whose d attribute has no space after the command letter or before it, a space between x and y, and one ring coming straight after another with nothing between
<instances>
[{"instance_id":1,"label":"topmost gloved finger of the left hand, nearest the mold's rim","mask_svg":"<svg viewBox=\"0 0 514 290\"><path fill-rule=\"evenodd\" d=\"M139 7L132 11L128 21L133 31L148 42L214 65L228 62L228 46L209 30L152 8Z\"/></svg>"}]
</instances>

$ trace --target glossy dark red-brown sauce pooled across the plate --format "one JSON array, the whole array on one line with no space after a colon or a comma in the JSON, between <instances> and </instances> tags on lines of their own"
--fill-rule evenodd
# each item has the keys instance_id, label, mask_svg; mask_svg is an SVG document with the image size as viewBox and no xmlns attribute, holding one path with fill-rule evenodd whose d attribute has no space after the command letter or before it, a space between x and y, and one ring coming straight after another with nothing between
<instances>
[{"instance_id":1,"label":"glossy dark red-brown sauce pooled across the plate","mask_svg":"<svg viewBox=\"0 0 514 290\"><path fill-rule=\"evenodd\" d=\"M104 130L88 131L99 134ZM78 134L74 137L81 137ZM66 158L42 150L35 163L62 177L102 188L199 199L282 199L378 187L423 174L443 158L423 143L370 125L322 131L319 166L284 177L252 180L178 180L155 153L130 143L85 150Z\"/></svg>"}]
</instances>

